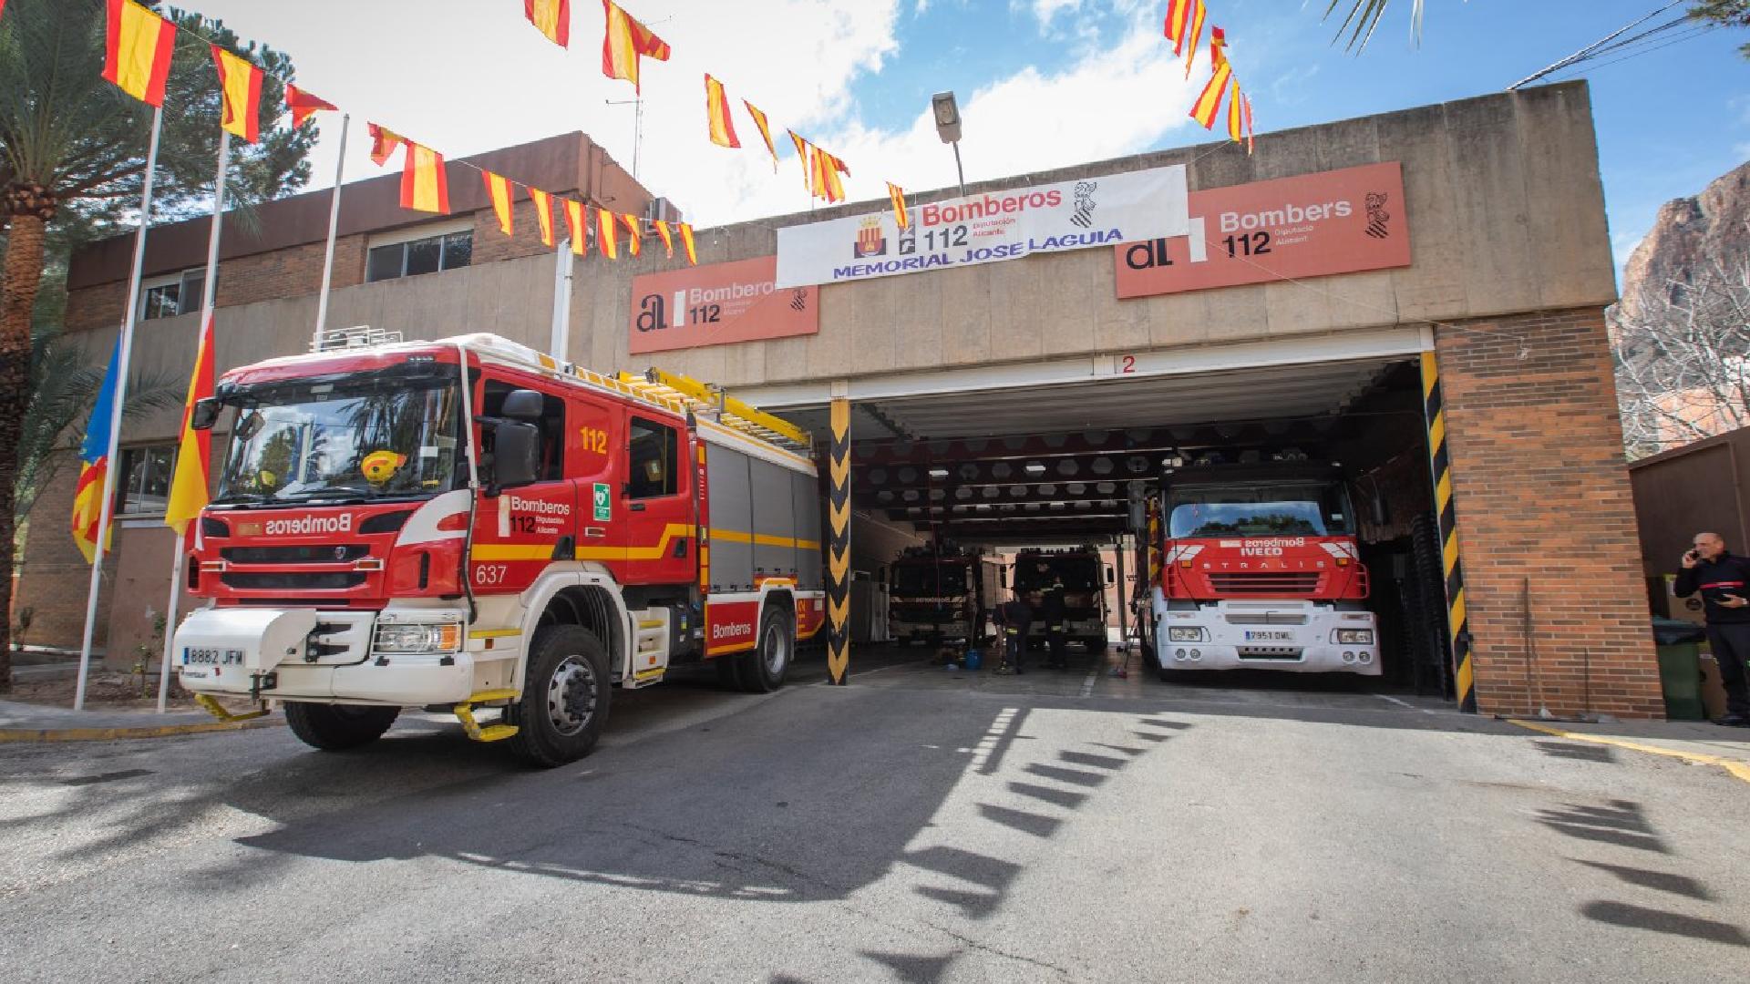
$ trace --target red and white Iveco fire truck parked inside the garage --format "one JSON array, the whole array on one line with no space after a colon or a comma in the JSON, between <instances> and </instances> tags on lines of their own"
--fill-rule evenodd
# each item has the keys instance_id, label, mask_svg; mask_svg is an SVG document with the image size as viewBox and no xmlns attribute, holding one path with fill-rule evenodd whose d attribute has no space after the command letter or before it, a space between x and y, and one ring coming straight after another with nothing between
<instances>
[{"instance_id":1,"label":"red and white Iveco fire truck parked inside the garage","mask_svg":"<svg viewBox=\"0 0 1750 984\"><path fill-rule=\"evenodd\" d=\"M1379 674L1367 567L1335 466L1181 467L1148 503L1144 653L1174 671Z\"/></svg>"}]
</instances>

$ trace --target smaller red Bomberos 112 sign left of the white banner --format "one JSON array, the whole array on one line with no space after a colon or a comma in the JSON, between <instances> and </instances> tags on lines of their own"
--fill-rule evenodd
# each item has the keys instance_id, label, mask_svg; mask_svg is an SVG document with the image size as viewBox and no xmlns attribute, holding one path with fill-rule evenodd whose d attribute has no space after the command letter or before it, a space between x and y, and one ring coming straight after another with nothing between
<instances>
[{"instance_id":1,"label":"smaller red Bomberos 112 sign left of the white banner","mask_svg":"<svg viewBox=\"0 0 1750 984\"><path fill-rule=\"evenodd\" d=\"M821 333L817 287L774 284L775 256L632 278L632 354Z\"/></svg>"}]
</instances>

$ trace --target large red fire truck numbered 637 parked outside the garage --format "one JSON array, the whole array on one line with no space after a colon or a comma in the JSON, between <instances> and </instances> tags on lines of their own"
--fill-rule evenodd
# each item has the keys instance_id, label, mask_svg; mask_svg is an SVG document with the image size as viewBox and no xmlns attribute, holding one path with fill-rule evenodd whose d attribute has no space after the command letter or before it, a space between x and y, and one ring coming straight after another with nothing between
<instances>
[{"instance_id":1,"label":"large red fire truck numbered 637 parked outside the garage","mask_svg":"<svg viewBox=\"0 0 1750 984\"><path fill-rule=\"evenodd\" d=\"M570 762L614 686L709 660L774 690L826 616L808 436L691 380L469 334L234 369L194 425L220 418L182 686L278 700L317 748L427 707Z\"/></svg>"}]
</instances>

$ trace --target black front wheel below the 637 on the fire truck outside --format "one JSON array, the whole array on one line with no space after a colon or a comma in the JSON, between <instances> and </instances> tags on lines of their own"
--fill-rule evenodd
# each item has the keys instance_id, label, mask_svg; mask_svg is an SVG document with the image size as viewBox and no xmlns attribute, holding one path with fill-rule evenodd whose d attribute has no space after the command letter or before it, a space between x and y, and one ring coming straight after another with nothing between
<instances>
[{"instance_id":1,"label":"black front wheel below the 637 on the fire truck outside","mask_svg":"<svg viewBox=\"0 0 1750 984\"><path fill-rule=\"evenodd\" d=\"M534 765L565 765L595 748L607 723L612 681L607 648L581 625L536 629L523 695L504 709L516 725L511 751Z\"/></svg>"}]
</instances>

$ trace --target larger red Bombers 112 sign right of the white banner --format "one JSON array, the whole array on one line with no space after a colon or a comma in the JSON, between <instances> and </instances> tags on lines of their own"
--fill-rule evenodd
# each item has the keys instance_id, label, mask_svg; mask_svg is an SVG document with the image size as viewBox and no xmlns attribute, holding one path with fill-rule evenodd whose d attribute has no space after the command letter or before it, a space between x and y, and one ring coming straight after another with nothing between
<instances>
[{"instance_id":1,"label":"larger red Bombers 112 sign right of the white banner","mask_svg":"<svg viewBox=\"0 0 1750 984\"><path fill-rule=\"evenodd\" d=\"M1410 264L1404 166L1396 161L1197 191L1190 226L1183 240L1113 247L1118 296Z\"/></svg>"}]
</instances>

